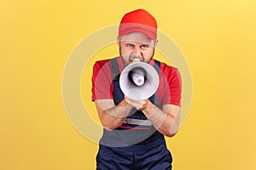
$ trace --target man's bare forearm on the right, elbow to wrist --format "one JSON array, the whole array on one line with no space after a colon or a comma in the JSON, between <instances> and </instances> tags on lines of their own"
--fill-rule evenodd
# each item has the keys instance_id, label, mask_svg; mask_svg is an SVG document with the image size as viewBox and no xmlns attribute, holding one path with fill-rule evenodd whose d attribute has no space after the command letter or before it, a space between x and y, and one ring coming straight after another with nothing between
<instances>
[{"instance_id":1,"label":"man's bare forearm on the right, elbow to wrist","mask_svg":"<svg viewBox=\"0 0 256 170\"><path fill-rule=\"evenodd\" d=\"M162 111L151 102L148 103L148 107L143 110L143 113L160 133L168 137L177 133L179 127L179 116L177 114Z\"/></svg>"}]
</instances>

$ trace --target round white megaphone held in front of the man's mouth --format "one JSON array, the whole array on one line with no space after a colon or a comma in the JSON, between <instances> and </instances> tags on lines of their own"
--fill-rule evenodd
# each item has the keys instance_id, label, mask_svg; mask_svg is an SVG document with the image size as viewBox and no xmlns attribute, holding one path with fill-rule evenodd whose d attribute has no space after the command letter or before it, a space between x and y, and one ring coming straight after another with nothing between
<instances>
[{"instance_id":1,"label":"round white megaphone held in front of the man's mouth","mask_svg":"<svg viewBox=\"0 0 256 170\"><path fill-rule=\"evenodd\" d=\"M148 99L159 86L159 76L153 66L134 61L121 72L119 86L130 99Z\"/></svg>"}]
</instances>

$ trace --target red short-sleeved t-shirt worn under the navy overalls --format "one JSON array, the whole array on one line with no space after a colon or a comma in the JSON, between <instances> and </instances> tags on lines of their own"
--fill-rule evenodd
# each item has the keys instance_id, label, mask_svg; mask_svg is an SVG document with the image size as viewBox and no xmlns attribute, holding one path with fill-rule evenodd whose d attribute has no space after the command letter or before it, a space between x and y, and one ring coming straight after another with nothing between
<instances>
[{"instance_id":1,"label":"red short-sleeved t-shirt worn under the navy overalls","mask_svg":"<svg viewBox=\"0 0 256 170\"><path fill-rule=\"evenodd\" d=\"M121 57L117 57L119 73L123 71ZM151 59L150 65L154 65ZM181 77L177 68L160 63L160 83L155 94L160 105L181 105ZM92 101L96 99L113 99L113 77L110 59L96 61L92 75Z\"/></svg>"}]
</instances>

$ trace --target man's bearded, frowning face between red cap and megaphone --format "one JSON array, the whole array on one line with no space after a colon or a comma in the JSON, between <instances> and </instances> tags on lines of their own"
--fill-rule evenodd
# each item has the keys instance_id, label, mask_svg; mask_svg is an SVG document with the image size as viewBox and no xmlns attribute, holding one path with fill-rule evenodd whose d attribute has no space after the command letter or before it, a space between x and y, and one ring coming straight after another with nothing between
<instances>
[{"instance_id":1,"label":"man's bearded, frowning face between red cap and megaphone","mask_svg":"<svg viewBox=\"0 0 256 170\"><path fill-rule=\"evenodd\" d=\"M156 41L138 31L119 37L119 53L124 65L129 65L134 59L149 63L154 55L155 43Z\"/></svg>"}]
</instances>

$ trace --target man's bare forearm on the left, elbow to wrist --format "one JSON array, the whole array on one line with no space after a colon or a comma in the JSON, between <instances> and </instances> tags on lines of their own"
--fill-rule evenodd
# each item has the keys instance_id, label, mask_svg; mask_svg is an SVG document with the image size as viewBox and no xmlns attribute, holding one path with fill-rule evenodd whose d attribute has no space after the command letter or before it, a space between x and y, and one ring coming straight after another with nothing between
<instances>
[{"instance_id":1,"label":"man's bare forearm on the left, elbow to wrist","mask_svg":"<svg viewBox=\"0 0 256 170\"><path fill-rule=\"evenodd\" d=\"M128 105L124 99L119 103L119 105L115 105L106 111L102 111L100 113L102 126L108 130L113 130L121 126L131 109L132 106Z\"/></svg>"}]
</instances>

